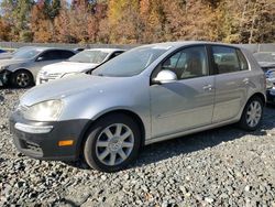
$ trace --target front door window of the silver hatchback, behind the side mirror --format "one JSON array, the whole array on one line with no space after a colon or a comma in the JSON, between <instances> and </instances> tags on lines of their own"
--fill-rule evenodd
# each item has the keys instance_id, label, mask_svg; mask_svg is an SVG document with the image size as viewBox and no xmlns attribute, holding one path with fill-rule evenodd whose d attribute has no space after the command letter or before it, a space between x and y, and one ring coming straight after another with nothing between
<instances>
[{"instance_id":1,"label":"front door window of the silver hatchback, behind the side mirror","mask_svg":"<svg viewBox=\"0 0 275 207\"><path fill-rule=\"evenodd\" d=\"M157 67L153 77L163 69L174 72L178 79L207 76L209 72L207 50L205 46L193 46L177 52Z\"/></svg>"}]
</instances>

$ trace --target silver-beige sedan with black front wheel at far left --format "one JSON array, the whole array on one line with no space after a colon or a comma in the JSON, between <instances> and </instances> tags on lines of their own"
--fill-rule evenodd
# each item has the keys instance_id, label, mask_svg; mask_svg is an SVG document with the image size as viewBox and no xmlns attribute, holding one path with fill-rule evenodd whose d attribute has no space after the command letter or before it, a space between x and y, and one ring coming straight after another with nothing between
<instances>
[{"instance_id":1,"label":"silver-beige sedan with black front wheel at far left","mask_svg":"<svg viewBox=\"0 0 275 207\"><path fill-rule=\"evenodd\" d=\"M10 59L0 59L0 86L12 84L25 88L35 83L38 70L48 64L67 59L76 52L65 48L25 47Z\"/></svg>"}]
</instances>

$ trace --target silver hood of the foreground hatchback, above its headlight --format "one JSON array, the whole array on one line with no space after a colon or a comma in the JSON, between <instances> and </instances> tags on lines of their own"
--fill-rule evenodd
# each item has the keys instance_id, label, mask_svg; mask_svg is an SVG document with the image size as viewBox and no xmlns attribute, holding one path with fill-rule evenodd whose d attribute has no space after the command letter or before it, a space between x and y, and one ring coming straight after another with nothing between
<instances>
[{"instance_id":1,"label":"silver hood of the foreground hatchback, above its headlight","mask_svg":"<svg viewBox=\"0 0 275 207\"><path fill-rule=\"evenodd\" d=\"M95 96L107 90L113 90L121 87L124 89L123 81L130 81L129 78L122 77L101 77L79 74L67 78L53 80L51 83L38 85L28 90L21 97L21 105L32 106L51 99L63 99L68 96L88 92L87 96Z\"/></svg>"}]
</instances>

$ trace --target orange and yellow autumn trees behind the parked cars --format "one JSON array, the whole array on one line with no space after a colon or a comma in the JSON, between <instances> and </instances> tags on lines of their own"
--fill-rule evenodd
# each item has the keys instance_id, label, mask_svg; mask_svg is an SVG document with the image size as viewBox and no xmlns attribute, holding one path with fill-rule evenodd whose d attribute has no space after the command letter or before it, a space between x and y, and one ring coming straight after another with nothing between
<instances>
[{"instance_id":1,"label":"orange and yellow autumn trees behind the parked cars","mask_svg":"<svg viewBox=\"0 0 275 207\"><path fill-rule=\"evenodd\" d=\"M2 0L0 40L275 42L274 0Z\"/></svg>"}]
</instances>

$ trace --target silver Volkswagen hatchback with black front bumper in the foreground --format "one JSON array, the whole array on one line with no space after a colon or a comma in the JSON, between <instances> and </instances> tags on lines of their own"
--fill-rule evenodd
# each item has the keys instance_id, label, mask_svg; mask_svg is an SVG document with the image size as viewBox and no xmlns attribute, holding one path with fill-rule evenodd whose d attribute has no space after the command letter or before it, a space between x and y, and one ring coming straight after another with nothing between
<instances>
[{"instance_id":1,"label":"silver Volkswagen hatchback with black front bumper in the foreground","mask_svg":"<svg viewBox=\"0 0 275 207\"><path fill-rule=\"evenodd\" d=\"M265 99L264 73L245 50L160 43L29 90L10 126L26 155L113 172L144 144L234 122L255 130Z\"/></svg>"}]
</instances>

